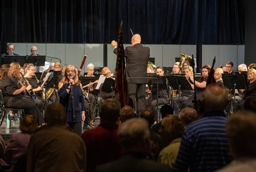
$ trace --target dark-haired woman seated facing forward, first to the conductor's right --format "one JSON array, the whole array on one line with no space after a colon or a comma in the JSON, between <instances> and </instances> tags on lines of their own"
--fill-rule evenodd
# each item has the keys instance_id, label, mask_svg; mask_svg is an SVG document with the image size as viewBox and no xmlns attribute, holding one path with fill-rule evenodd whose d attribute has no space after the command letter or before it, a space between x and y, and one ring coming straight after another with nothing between
<instances>
[{"instance_id":1,"label":"dark-haired woman seated facing forward, first to the conductor's right","mask_svg":"<svg viewBox=\"0 0 256 172\"><path fill-rule=\"evenodd\" d=\"M164 68L161 66L156 67L156 74L159 76L164 76ZM158 99L158 105L166 105L169 104L169 97L167 94L167 89L164 90L158 90L158 98L156 97L156 90L147 90L148 93L151 93L152 97L148 98L146 100L146 107L150 107L154 112L155 121L157 120L157 111L156 111L156 105L157 105L157 99Z\"/></svg>"}]
</instances>

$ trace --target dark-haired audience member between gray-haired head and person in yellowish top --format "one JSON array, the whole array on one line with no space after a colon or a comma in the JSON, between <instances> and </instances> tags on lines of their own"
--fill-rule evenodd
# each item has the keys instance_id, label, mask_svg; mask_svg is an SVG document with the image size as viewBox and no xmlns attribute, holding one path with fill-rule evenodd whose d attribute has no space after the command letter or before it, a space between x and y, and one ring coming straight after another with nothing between
<instances>
[{"instance_id":1,"label":"dark-haired audience member between gray-haired head and person in yellowish top","mask_svg":"<svg viewBox=\"0 0 256 172\"><path fill-rule=\"evenodd\" d=\"M148 127L150 128L154 124L154 113L149 108L144 109L140 113L140 117L146 119L148 122ZM163 149L164 143L160 135L153 131L150 131L150 149L147 157L151 160L157 160L159 152Z\"/></svg>"}]
</instances>

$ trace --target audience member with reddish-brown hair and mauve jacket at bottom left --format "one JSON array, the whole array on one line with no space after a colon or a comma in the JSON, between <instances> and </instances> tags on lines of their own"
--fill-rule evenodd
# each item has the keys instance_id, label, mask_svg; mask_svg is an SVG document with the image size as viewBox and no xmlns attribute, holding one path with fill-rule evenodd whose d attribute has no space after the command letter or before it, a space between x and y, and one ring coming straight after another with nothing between
<instances>
[{"instance_id":1,"label":"audience member with reddish-brown hair and mauve jacket at bottom left","mask_svg":"<svg viewBox=\"0 0 256 172\"><path fill-rule=\"evenodd\" d=\"M21 132L11 135L6 147L6 161L9 163L11 171L22 156L27 154L30 136L37 128L35 117L26 115L20 123Z\"/></svg>"}]
</instances>

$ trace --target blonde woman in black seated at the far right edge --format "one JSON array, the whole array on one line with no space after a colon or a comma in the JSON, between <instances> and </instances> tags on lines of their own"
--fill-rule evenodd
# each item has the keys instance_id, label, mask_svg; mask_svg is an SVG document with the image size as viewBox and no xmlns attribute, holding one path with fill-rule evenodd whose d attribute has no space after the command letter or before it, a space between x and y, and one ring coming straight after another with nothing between
<instances>
[{"instance_id":1,"label":"blonde woman in black seated at the far right edge","mask_svg":"<svg viewBox=\"0 0 256 172\"><path fill-rule=\"evenodd\" d=\"M243 110L244 109L244 102L246 97L249 96L256 96L256 70L254 68L251 68L248 71L248 85L249 89L240 90L243 92L244 97L242 100L238 100L235 103L235 110Z\"/></svg>"}]
</instances>

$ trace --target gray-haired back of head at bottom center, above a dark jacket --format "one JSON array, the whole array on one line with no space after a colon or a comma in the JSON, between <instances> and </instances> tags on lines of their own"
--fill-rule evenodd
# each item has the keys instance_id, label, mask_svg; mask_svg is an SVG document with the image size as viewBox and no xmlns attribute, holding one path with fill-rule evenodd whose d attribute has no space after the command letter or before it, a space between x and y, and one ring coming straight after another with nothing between
<instances>
[{"instance_id":1,"label":"gray-haired back of head at bottom center, above a dark jacket","mask_svg":"<svg viewBox=\"0 0 256 172\"><path fill-rule=\"evenodd\" d=\"M142 118L131 118L118 128L118 136L123 147L133 147L150 139L148 122Z\"/></svg>"}]
</instances>

